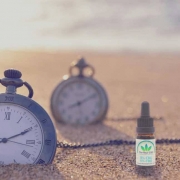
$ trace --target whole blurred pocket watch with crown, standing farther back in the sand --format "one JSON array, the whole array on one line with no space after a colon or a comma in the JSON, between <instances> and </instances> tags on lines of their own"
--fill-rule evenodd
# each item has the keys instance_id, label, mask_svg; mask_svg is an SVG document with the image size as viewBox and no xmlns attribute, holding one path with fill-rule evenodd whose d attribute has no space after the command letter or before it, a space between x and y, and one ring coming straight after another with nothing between
<instances>
[{"instance_id":1,"label":"whole blurred pocket watch with crown, standing farther back in the sand","mask_svg":"<svg viewBox=\"0 0 180 180\"><path fill-rule=\"evenodd\" d=\"M76 74L75 74L76 73ZM51 111L58 122L90 124L105 118L108 98L93 79L94 68L81 58L74 61L51 96Z\"/></svg>"}]
</instances>

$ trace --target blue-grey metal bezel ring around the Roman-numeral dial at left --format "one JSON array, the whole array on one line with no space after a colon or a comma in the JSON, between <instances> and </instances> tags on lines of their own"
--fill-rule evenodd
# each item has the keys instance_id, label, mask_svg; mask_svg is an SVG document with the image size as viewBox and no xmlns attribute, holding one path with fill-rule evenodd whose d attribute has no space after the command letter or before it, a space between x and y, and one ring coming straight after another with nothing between
<instances>
[{"instance_id":1,"label":"blue-grey metal bezel ring around the Roman-numeral dial at left","mask_svg":"<svg viewBox=\"0 0 180 180\"><path fill-rule=\"evenodd\" d=\"M19 94L2 93L0 94L0 104L1 103L22 106L36 117L41 125L44 142L41 153L33 164L52 163L56 153L57 138L53 122L47 112L37 102ZM46 140L50 140L51 143L48 145L45 143L47 142Z\"/></svg>"}]
</instances>

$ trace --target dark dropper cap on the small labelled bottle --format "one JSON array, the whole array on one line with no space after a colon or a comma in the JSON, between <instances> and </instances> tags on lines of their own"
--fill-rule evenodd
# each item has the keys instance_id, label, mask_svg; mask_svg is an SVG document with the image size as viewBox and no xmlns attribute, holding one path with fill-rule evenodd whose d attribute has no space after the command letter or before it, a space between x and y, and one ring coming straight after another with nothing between
<instances>
[{"instance_id":1,"label":"dark dropper cap on the small labelled bottle","mask_svg":"<svg viewBox=\"0 0 180 180\"><path fill-rule=\"evenodd\" d=\"M150 117L149 103L141 104L141 117L137 119L136 132L138 134L154 133L153 118Z\"/></svg>"}]
</instances>

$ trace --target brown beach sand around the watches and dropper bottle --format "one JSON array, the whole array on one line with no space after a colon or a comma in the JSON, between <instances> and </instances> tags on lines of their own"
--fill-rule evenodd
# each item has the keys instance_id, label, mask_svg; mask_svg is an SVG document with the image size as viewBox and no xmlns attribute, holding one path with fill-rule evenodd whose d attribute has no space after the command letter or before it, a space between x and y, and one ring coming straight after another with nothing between
<instances>
[{"instance_id":1,"label":"brown beach sand around the watches and dropper bottle","mask_svg":"<svg viewBox=\"0 0 180 180\"><path fill-rule=\"evenodd\" d=\"M95 79L108 93L107 119L99 124L70 126L56 123L50 108L52 90L73 60L83 55L95 69ZM142 101L151 105L156 138L180 138L180 56L173 54L107 54L90 52L0 52L0 77L8 68L19 69L34 89L33 99L52 117L59 141L96 143L110 139L134 140ZM0 87L4 92L5 88ZM27 95L23 87L18 93ZM134 145L86 149L58 149L51 165L0 167L0 179L179 179L180 144L157 145L153 169L135 166Z\"/></svg>"}]
</instances>

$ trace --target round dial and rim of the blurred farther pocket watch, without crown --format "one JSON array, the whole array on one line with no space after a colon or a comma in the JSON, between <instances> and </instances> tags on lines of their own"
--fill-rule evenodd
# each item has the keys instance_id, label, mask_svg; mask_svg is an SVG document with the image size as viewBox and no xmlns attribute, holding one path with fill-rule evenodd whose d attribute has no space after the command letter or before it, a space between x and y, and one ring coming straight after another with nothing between
<instances>
[{"instance_id":1,"label":"round dial and rim of the blurred farther pocket watch, without crown","mask_svg":"<svg viewBox=\"0 0 180 180\"><path fill-rule=\"evenodd\" d=\"M89 124L102 120L107 111L107 98L94 80L70 80L55 91L52 110L55 116L70 124Z\"/></svg>"}]
</instances>

